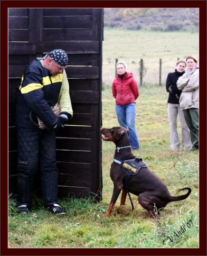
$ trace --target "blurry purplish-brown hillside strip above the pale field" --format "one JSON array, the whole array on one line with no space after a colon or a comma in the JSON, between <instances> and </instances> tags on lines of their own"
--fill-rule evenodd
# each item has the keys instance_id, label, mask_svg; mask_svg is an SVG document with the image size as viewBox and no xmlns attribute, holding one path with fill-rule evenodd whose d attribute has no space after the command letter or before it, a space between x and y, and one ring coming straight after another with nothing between
<instances>
[{"instance_id":1,"label":"blurry purplish-brown hillside strip above the pale field","mask_svg":"<svg viewBox=\"0 0 207 256\"><path fill-rule=\"evenodd\" d=\"M199 8L105 8L104 26L128 30L199 31Z\"/></svg>"}]
</instances>

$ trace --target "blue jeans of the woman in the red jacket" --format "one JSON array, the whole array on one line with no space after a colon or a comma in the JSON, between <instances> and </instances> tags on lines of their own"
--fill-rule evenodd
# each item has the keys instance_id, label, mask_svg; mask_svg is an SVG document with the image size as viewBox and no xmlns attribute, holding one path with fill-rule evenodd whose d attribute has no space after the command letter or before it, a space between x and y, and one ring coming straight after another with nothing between
<instances>
[{"instance_id":1,"label":"blue jeans of the woman in the red jacket","mask_svg":"<svg viewBox=\"0 0 207 256\"><path fill-rule=\"evenodd\" d=\"M120 126L129 131L129 140L132 149L139 149L139 140L135 127L136 105L130 103L124 106L116 104L116 114ZM126 145L127 146L127 145Z\"/></svg>"}]
</instances>

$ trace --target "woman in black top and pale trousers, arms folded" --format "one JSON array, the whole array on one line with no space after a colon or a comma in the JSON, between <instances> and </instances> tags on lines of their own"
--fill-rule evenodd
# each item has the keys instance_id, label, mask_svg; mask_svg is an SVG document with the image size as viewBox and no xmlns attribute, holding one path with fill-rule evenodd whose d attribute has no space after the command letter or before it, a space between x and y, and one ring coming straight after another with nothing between
<instances>
[{"instance_id":1,"label":"woman in black top and pale trousers, arms folded","mask_svg":"<svg viewBox=\"0 0 207 256\"><path fill-rule=\"evenodd\" d=\"M180 117L182 144L184 150L191 149L190 131L185 122L183 111L179 104L181 90L177 88L177 79L185 73L185 59L179 59L176 62L175 72L169 73L166 80L166 90L169 93L167 100L167 111L170 122L170 146L172 151L180 150L180 138L177 132L177 115Z\"/></svg>"}]
</instances>

